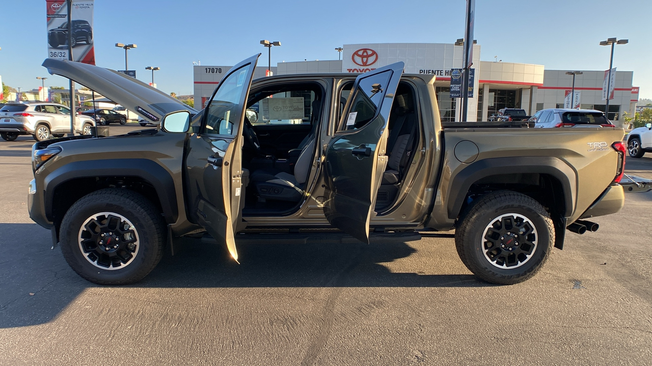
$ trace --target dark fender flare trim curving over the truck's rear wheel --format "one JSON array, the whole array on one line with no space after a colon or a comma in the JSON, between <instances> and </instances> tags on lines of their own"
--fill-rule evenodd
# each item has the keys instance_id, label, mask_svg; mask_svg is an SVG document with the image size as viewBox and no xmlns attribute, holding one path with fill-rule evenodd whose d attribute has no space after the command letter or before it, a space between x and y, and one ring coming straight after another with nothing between
<instances>
[{"instance_id":1,"label":"dark fender flare trim curving over the truck's rear wheel","mask_svg":"<svg viewBox=\"0 0 652 366\"><path fill-rule=\"evenodd\" d=\"M451 195L447 204L448 217L450 219L458 217L473 183L487 176L499 175L501 171L506 174L539 173L554 176L561 182L564 193L566 212L561 214L568 217L573 212L577 193L577 174L574 169L552 156L518 156L479 160L457 173L449 186Z\"/></svg>"}]
</instances>

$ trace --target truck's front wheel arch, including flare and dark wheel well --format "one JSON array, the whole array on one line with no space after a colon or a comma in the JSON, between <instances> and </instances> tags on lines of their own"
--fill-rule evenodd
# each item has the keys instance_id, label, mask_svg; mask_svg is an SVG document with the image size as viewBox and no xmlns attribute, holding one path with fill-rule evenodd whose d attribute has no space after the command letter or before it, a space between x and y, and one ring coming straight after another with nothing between
<instances>
[{"instance_id":1,"label":"truck's front wheel arch, including flare and dark wheel well","mask_svg":"<svg viewBox=\"0 0 652 366\"><path fill-rule=\"evenodd\" d=\"M161 210L168 224L179 217L172 176L164 167L146 159L89 160L59 167L44 179L46 217L58 228L73 203L108 187L141 193Z\"/></svg>"}]
</instances>

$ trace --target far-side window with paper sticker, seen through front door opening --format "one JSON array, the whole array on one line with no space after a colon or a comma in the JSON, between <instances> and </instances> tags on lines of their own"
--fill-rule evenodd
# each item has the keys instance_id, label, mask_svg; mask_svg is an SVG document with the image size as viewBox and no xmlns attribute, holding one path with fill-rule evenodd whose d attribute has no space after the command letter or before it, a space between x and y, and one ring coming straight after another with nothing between
<instances>
[{"instance_id":1,"label":"far-side window with paper sticker, seen through front door opening","mask_svg":"<svg viewBox=\"0 0 652 366\"><path fill-rule=\"evenodd\" d=\"M261 124L310 124L316 120L321 110L321 99L314 90L295 90L277 92L258 100L248 107L258 112Z\"/></svg>"}]
</instances>

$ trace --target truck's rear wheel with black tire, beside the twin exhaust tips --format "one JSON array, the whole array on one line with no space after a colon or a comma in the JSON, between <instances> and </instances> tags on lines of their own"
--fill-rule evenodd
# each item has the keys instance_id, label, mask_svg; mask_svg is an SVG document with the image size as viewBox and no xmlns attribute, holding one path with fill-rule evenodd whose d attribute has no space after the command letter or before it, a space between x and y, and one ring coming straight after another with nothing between
<instances>
[{"instance_id":1,"label":"truck's rear wheel with black tire, beside the twin exhaust tips","mask_svg":"<svg viewBox=\"0 0 652 366\"><path fill-rule=\"evenodd\" d=\"M554 241L548 212L531 197L514 191L478 199L455 231L455 246L466 268L497 285L533 277L548 259Z\"/></svg>"}]
</instances>

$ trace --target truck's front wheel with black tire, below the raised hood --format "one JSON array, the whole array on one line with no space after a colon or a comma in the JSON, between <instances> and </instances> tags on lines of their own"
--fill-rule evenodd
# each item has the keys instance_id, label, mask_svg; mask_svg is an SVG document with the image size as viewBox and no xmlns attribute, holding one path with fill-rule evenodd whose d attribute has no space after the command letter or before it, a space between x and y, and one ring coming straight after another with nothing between
<instances>
[{"instance_id":1,"label":"truck's front wheel with black tire, below the raised hood","mask_svg":"<svg viewBox=\"0 0 652 366\"><path fill-rule=\"evenodd\" d=\"M164 223L133 191L107 188L74 203L61 222L63 257L99 285L126 285L149 274L163 255Z\"/></svg>"}]
</instances>

